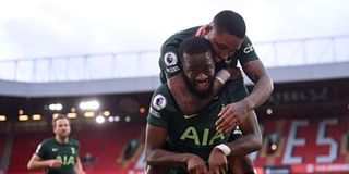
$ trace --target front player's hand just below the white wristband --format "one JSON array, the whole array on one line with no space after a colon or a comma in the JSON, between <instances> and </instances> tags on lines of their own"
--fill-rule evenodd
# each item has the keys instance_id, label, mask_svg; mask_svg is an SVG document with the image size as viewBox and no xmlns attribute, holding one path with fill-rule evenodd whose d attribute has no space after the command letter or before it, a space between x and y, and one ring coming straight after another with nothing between
<instances>
[{"instance_id":1,"label":"front player's hand just below the white wristband","mask_svg":"<svg viewBox=\"0 0 349 174\"><path fill-rule=\"evenodd\" d=\"M228 171L228 161L225 153L214 148L208 159L209 174L225 174Z\"/></svg>"}]
</instances>

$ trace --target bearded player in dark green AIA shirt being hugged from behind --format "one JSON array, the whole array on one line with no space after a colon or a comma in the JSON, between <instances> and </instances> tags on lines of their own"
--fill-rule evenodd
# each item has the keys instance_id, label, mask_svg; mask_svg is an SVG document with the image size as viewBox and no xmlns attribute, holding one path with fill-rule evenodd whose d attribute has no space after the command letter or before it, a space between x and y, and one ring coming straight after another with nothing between
<instances>
[{"instance_id":1,"label":"bearded player in dark green AIA shirt being hugged from behind","mask_svg":"<svg viewBox=\"0 0 349 174\"><path fill-rule=\"evenodd\" d=\"M214 50L201 37L188 39L180 48L185 88L195 96L212 94L215 76ZM249 112L240 129L243 137L229 142L229 134L216 130L221 108L243 99L243 80L229 82L236 88L224 88L197 114L185 115L178 108L166 84L154 92L147 117L145 159L147 173L226 173L227 157L241 157L258 150L262 136L255 113ZM229 164L230 165L230 164ZM233 170L233 169L230 169Z\"/></svg>"}]
</instances>

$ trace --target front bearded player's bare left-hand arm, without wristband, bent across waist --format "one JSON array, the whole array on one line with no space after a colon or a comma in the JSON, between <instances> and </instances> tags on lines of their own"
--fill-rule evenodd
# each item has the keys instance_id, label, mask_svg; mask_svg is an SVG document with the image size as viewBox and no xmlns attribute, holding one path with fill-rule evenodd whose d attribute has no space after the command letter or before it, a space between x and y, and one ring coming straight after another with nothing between
<instances>
[{"instance_id":1,"label":"front bearded player's bare left-hand arm, without wristband, bent across waist","mask_svg":"<svg viewBox=\"0 0 349 174\"><path fill-rule=\"evenodd\" d=\"M189 173L207 173L205 162L200 157L191 153L176 153L165 150L166 139L166 129L147 124L145 135L147 174L153 172L152 167L164 169L173 166L184 166Z\"/></svg>"}]
</instances>

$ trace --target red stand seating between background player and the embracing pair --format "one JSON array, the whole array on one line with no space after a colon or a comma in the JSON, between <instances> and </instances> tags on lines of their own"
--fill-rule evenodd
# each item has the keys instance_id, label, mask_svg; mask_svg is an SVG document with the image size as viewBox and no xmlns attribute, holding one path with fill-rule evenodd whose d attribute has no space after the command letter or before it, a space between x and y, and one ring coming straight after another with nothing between
<instances>
[{"instance_id":1,"label":"red stand seating between background player and the embracing pair","mask_svg":"<svg viewBox=\"0 0 349 174\"><path fill-rule=\"evenodd\" d=\"M127 166L122 159L123 150L133 138L139 137L143 128L143 125L116 126L110 124L80 130L76 139L83 145L81 158L86 153L95 158L94 162L84 165L86 172L112 173L123 170Z\"/></svg>"}]
</instances>

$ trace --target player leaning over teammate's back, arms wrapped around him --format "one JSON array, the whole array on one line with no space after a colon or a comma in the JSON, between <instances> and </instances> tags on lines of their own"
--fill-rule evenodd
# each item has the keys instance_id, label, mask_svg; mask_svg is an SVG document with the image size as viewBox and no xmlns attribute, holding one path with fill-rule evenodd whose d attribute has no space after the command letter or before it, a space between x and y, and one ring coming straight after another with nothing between
<instances>
[{"instance_id":1,"label":"player leaning over teammate's back, arms wrapped around him","mask_svg":"<svg viewBox=\"0 0 349 174\"><path fill-rule=\"evenodd\" d=\"M178 48L185 38L204 37L208 39L215 49L214 61L217 70L236 67L237 63L240 62L244 73L255 83L251 95L243 100L227 104L220 112L220 119L217 122L217 129L220 132L230 132L236 125L239 125L248 115L246 113L268 99L274 88L273 82L255 53L252 42L245 36L245 29L246 26L242 16L232 11L221 11L208 25L179 32L168 38L161 47L159 60L161 82L168 84L177 104L184 114L195 114L207 105L220 90L221 84L230 76L225 71L218 72L213 92L206 98L198 98L183 88ZM217 85L219 83L221 84Z\"/></svg>"}]
</instances>

